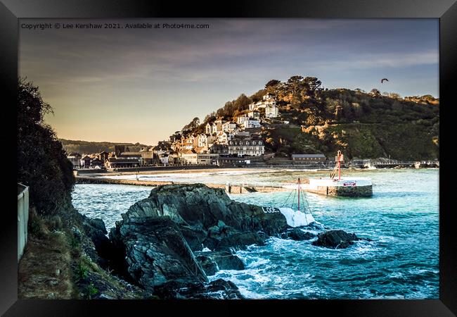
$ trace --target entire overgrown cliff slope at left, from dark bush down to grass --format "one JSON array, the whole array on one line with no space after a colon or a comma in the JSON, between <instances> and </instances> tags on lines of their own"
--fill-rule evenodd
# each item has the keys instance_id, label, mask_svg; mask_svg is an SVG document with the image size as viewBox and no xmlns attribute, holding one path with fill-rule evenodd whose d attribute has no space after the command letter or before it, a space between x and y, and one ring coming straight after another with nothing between
<instances>
[{"instance_id":1,"label":"entire overgrown cliff slope at left, from dark bush down to grass","mask_svg":"<svg viewBox=\"0 0 457 317\"><path fill-rule=\"evenodd\" d=\"M104 236L71 201L75 177L44 115L39 88L18 80L18 182L30 187L28 237L18 269L21 299L142 298L138 287L107 273L91 237ZM95 240L94 241L98 241Z\"/></svg>"}]
</instances>

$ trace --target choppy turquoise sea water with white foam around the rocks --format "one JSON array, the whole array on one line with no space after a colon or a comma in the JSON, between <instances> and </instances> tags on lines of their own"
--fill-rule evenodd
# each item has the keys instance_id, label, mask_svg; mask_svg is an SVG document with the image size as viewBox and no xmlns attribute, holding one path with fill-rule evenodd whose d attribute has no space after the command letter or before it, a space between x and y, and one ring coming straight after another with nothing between
<instances>
[{"instance_id":1,"label":"choppy turquoise sea water with white foam around the rocks","mask_svg":"<svg viewBox=\"0 0 457 317\"><path fill-rule=\"evenodd\" d=\"M205 182L294 182L299 177L326 176L305 170L233 170L231 174L186 175ZM200 172L198 172L200 173ZM361 240L347 249L327 249L313 240L272 237L263 247L236 254L243 271L219 271L210 280L233 281L247 298L259 299L438 299L439 170L345 171L345 176L371 178L373 197L326 197L306 193L316 222L328 229L354 232ZM168 176L174 177L174 176ZM230 178L228 178L230 177ZM73 204L109 228L129 206L148 197L151 187L76 185ZM262 206L297 209L290 192L231 194L231 199ZM305 228L322 232L321 228Z\"/></svg>"}]
</instances>

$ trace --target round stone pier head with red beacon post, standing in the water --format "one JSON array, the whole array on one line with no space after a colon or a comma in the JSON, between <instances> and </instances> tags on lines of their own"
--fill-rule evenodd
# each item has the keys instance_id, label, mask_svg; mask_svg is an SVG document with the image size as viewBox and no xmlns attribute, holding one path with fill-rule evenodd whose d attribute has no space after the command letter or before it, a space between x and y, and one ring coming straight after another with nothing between
<instances>
[{"instance_id":1,"label":"round stone pier head with red beacon post, standing in the water","mask_svg":"<svg viewBox=\"0 0 457 317\"><path fill-rule=\"evenodd\" d=\"M315 194L326 196L344 197L371 197L373 196L373 183L369 178L342 178L341 163L344 156L337 151L335 156L335 168L330 173L330 178L304 178L302 189ZM293 188L292 185L285 185Z\"/></svg>"}]
</instances>

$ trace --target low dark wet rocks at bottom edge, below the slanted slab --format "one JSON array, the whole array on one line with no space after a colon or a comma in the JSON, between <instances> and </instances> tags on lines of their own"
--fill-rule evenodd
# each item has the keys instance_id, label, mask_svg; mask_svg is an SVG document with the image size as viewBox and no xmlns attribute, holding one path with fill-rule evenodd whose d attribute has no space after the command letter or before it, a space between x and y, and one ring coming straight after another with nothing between
<instances>
[{"instance_id":1,"label":"low dark wet rocks at bottom edge, below the slanted slab","mask_svg":"<svg viewBox=\"0 0 457 317\"><path fill-rule=\"evenodd\" d=\"M155 288L160 299L243 299L233 282L214 280L210 283L170 281Z\"/></svg>"}]
</instances>

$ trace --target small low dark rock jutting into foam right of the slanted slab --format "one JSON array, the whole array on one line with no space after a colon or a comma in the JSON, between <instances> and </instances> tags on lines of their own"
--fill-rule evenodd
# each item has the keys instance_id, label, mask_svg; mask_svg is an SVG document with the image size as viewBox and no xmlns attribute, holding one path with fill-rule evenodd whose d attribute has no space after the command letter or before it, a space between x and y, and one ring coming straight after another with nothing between
<instances>
[{"instance_id":1,"label":"small low dark rock jutting into foam right of the slanted slab","mask_svg":"<svg viewBox=\"0 0 457 317\"><path fill-rule=\"evenodd\" d=\"M195 258L200 261L207 275L214 275L219 270L244 270L243 261L228 251L195 252Z\"/></svg>"}]
</instances>

